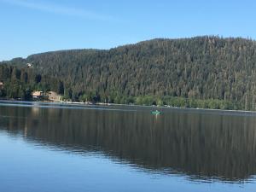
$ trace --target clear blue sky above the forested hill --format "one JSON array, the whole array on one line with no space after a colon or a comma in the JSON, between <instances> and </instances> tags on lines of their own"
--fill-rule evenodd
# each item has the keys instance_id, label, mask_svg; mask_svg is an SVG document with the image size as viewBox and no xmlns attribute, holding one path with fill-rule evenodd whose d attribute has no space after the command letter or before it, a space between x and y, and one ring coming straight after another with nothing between
<instances>
[{"instance_id":1,"label":"clear blue sky above the forested hill","mask_svg":"<svg viewBox=\"0 0 256 192\"><path fill-rule=\"evenodd\" d=\"M151 38L256 39L256 1L0 0L0 61Z\"/></svg>"}]
</instances>

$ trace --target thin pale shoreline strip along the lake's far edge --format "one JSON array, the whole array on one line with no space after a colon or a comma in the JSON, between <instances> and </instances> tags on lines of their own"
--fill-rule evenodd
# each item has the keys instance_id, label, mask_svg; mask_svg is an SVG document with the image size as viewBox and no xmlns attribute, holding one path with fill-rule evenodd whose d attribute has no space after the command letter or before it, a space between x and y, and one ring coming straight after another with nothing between
<instances>
[{"instance_id":1,"label":"thin pale shoreline strip along the lake's far edge","mask_svg":"<svg viewBox=\"0 0 256 192\"><path fill-rule=\"evenodd\" d=\"M104 103L104 102L63 102L63 101L22 101L15 99L3 99L0 98L0 102L20 102L20 103L45 103L45 104L64 104L64 105L79 105L79 106L119 106L119 107L138 107L138 108L163 108L163 109L181 109L181 110L193 110L193 111L208 111L208 112L226 112L226 113L256 113L256 111L247 110L229 110L229 109L217 109L217 108L179 108L172 106L148 106L148 105L137 105L137 104L118 104L118 103Z\"/></svg>"}]
</instances>

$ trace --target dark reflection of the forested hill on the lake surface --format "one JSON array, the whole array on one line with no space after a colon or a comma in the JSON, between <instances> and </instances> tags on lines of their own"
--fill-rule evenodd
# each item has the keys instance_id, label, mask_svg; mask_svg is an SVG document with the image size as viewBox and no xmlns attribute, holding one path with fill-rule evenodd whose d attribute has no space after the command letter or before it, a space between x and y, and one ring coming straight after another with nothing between
<instances>
[{"instance_id":1,"label":"dark reflection of the forested hill on the lake surface","mask_svg":"<svg viewBox=\"0 0 256 192\"><path fill-rule=\"evenodd\" d=\"M230 181L256 174L255 117L9 107L0 114L0 128L13 134L84 152L101 148L147 169Z\"/></svg>"}]
</instances>

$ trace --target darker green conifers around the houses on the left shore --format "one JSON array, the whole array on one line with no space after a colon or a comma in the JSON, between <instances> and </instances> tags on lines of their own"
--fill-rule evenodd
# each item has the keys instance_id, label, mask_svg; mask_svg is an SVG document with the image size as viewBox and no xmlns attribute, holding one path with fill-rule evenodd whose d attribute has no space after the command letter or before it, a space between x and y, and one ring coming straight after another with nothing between
<instances>
[{"instance_id":1,"label":"darker green conifers around the houses on the left shore","mask_svg":"<svg viewBox=\"0 0 256 192\"><path fill-rule=\"evenodd\" d=\"M54 90L59 94L64 93L63 83L48 76L35 73L32 68L15 67L11 65L0 65L0 98L21 99L29 101L32 99L33 90L47 92Z\"/></svg>"}]
</instances>

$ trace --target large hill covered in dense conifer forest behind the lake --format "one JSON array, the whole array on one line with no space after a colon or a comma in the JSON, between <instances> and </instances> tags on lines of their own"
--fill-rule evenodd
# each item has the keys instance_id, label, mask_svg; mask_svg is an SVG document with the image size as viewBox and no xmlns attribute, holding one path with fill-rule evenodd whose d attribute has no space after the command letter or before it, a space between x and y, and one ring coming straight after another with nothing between
<instances>
[{"instance_id":1,"label":"large hill covered in dense conifer forest behind the lake","mask_svg":"<svg viewBox=\"0 0 256 192\"><path fill-rule=\"evenodd\" d=\"M8 82L15 76L15 82L30 89L55 90L74 101L254 110L255 64L256 42L249 39L154 39L108 50L74 49L17 58L2 62L2 69L15 66L20 73L31 73L26 82L24 75L12 74L13 69L9 76L0 71L0 80ZM215 103L210 106L209 101Z\"/></svg>"}]
</instances>

